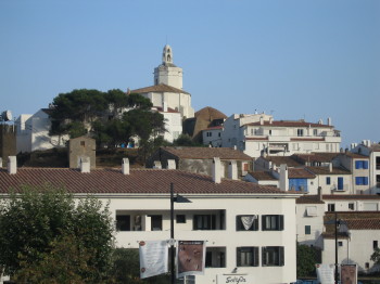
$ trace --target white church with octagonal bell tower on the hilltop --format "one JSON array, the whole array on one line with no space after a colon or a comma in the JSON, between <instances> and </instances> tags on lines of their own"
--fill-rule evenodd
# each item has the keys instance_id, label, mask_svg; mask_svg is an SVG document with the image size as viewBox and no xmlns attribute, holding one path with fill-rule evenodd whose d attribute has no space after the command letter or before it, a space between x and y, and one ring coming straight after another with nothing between
<instances>
[{"instance_id":1,"label":"white church with octagonal bell tower on the hilltop","mask_svg":"<svg viewBox=\"0 0 380 284\"><path fill-rule=\"evenodd\" d=\"M160 112L179 113L180 120L194 117L191 94L183 90L182 75L182 68L173 63L173 49L166 44L162 54L162 64L154 68L154 85L130 90L130 93L150 99Z\"/></svg>"}]
</instances>

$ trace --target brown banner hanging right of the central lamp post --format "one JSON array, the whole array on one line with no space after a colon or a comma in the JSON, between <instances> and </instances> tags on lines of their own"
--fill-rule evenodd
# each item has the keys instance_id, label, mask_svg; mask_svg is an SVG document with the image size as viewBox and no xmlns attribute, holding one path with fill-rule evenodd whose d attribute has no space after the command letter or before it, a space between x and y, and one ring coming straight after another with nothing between
<instances>
[{"instance_id":1,"label":"brown banner hanging right of the central lamp post","mask_svg":"<svg viewBox=\"0 0 380 284\"><path fill-rule=\"evenodd\" d=\"M204 274L205 241L178 241L177 277Z\"/></svg>"}]
</instances>

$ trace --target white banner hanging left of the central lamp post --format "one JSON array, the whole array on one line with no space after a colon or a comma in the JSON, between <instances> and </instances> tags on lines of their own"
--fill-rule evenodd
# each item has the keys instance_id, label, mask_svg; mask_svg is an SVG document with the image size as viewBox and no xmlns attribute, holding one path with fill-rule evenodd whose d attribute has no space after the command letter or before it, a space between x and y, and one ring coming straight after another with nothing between
<instances>
[{"instance_id":1,"label":"white banner hanging left of the central lamp post","mask_svg":"<svg viewBox=\"0 0 380 284\"><path fill-rule=\"evenodd\" d=\"M166 273L168 248L166 241L147 241L139 243L140 279Z\"/></svg>"}]
</instances>

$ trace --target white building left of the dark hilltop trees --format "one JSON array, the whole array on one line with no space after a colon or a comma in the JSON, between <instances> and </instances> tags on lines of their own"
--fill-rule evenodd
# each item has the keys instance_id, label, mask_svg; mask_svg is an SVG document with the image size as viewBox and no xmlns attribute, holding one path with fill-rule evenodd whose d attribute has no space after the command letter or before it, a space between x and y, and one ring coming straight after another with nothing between
<instances>
[{"instance_id":1,"label":"white building left of the dark hilltop trees","mask_svg":"<svg viewBox=\"0 0 380 284\"><path fill-rule=\"evenodd\" d=\"M17 153L64 147L68 135L50 135L51 121L45 109L39 109L34 115L21 115L16 124Z\"/></svg>"}]
</instances>

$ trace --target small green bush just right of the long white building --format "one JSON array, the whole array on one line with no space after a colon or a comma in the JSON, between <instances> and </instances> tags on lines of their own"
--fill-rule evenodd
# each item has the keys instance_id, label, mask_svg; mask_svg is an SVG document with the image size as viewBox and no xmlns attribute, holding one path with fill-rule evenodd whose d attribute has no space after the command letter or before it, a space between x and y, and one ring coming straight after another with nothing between
<instances>
[{"instance_id":1,"label":"small green bush just right of the long white building","mask_svg":"<svg viewBox=\"0 0 380 284\"><path fill-rule=\"evenodd\" d=\"M314 247L296 244L296 276L305 277L315 274L317 251Z\"/></svg>"}]
</instances>

